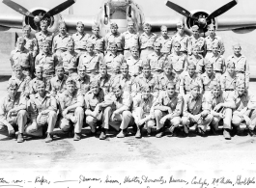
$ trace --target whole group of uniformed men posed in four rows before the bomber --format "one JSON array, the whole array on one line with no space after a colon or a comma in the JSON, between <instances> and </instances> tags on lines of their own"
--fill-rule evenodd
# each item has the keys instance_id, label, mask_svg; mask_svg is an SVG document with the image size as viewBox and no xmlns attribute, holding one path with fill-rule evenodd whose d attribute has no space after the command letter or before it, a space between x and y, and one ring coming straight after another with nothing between
<instances>
[{"instance_id":1,"label":"whole group of uniformed men posed in four rows before the bomber","mask_svg":"<svg viewBox=\"0 0 256 188\"><path fill-rule=\"evenodd\" d=\"M73 133L75 141L84 126L93 135L100 130L100 140L110 127L124 138L129 126L135 138L143 128L148 134L156 128L156 138L177 131L187 136L191 126L205 136L209 127L216 134L220 121L225 139L242 123L255 135L248 63L240 44L225 60L214 25L207 38L196 25L188 37L182 22L172 37L166 26L156 36L148 23L139 35L132 21L123 34L111 23L104 37L97 25L86 34L82 22L72 36L65 23L56 35L47 31L47 21L40 27L35 36L30 26L23 27L11 53L8 95L0 104L0 131L10 137L17 132L18 143L25 134L45 135L49 143L56 127Z\"/></svg>"}]
</instances>

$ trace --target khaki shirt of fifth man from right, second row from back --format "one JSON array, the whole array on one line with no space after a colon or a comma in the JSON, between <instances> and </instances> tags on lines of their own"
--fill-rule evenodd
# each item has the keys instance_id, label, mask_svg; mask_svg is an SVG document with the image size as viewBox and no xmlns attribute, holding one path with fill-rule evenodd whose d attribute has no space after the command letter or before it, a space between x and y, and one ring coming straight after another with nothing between
<instances>
[{"instance_id":1,"label":"khaki shirt of fifth man from right, second row from back","mask_svg":"<svg viewBox=\"0 0 256 188\"><path fill-rule=\"evenodd\" d=\"M166 60L166 56L164 54L160 54L159 56L156 52L148 55L146 61L150 64L153 73L161 73L163 71L164 61Z\"/></svg>"}]
</instances>

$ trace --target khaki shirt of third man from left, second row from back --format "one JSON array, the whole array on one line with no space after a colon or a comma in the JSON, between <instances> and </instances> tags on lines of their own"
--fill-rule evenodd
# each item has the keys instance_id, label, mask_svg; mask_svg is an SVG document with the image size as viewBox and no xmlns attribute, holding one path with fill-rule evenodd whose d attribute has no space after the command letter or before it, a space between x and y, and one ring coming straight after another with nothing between
<instances>
[{"instance_id":1,"label":"khaki shirt of third man from left, second row from back","mask_svg":"<svg viewBox=\"0 0 256 188\"><path fill-rule=\"evenodd\" d=\"M76 69L78 66L79 56L76 52L70 53L69 51L61 54L60 62L62 62L65 71L69 71L69 67Z\"/></svg>"}]
</instances>

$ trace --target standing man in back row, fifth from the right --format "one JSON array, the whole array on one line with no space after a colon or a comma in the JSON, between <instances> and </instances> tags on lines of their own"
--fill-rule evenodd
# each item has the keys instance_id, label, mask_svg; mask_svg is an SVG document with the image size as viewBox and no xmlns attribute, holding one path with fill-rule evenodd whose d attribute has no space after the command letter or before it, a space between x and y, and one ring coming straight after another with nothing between
<instances>
[{"instance_id":1,"label":"standing man in back row, fifth from the right","mask_svg":"<svg viewBox=\"0 0 256 188\"><path fill-rule=\"evenodd\" d=\"M156 34L151 32L151 24L143 24L143 33L139 36L140 58L145 60L152 53L152 44L156 41Z\"/></svg>"}]
</instances>

